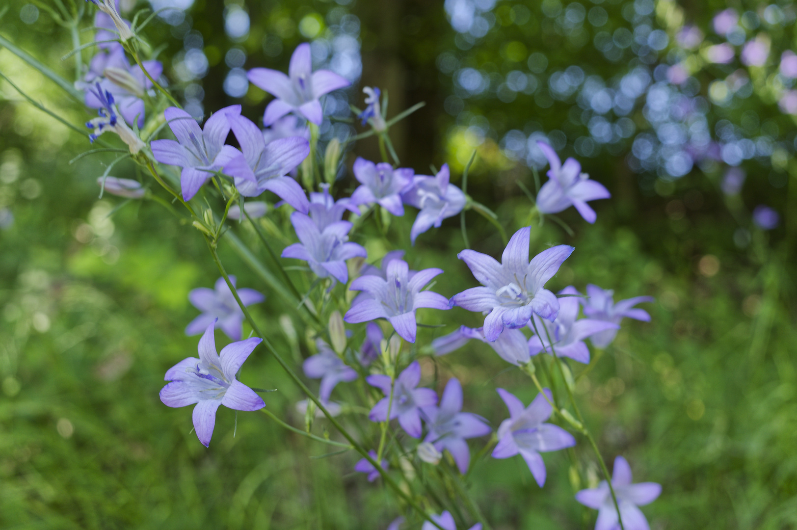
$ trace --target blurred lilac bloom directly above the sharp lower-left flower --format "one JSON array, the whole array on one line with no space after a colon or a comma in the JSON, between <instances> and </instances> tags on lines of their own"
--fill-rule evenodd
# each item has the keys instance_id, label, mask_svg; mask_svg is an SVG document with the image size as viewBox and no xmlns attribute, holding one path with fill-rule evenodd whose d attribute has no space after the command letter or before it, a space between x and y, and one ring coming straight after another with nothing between
<instances>
[{"instance_id":1,"label":"blurred lilac bloom directly above the sharp lower-left flower","mask_svg":"<svg viewBox=\"0 0 797 530\"><path fill-rule=\"evenodd\" d=\"M230 275L230 282L235 285L235 277ZM258 304L265 300L261 292L254 289L236 289L241 302L244 305ZM222 328L226 336L232 340L241 340L241 325L244 322L244 312L235 301L230 286L219 278L214 289L200 287L188 293L188 300L194 305L201 315L191 320L186 326L186 335L197 335L208 325L214 324L216 328Z\"/></svg>"}]
</instances>

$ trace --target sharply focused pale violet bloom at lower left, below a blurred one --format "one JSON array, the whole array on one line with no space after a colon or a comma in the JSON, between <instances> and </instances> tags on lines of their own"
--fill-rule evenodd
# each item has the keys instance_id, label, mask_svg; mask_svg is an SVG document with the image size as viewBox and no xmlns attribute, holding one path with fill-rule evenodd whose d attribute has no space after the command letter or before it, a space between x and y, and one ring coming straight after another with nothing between
<instances>
[{"instance_id":1,"label":"sharply focused pale violet bloom at lower left, below a blurred one","mask_svg":"<svg viewBox=\"0 0 797 530\"><path fill-rule=\"evenodd\" d=\"M228 344L216 353L214 323L199 340L199 358L188 357L169 368L164 379L171 381L160 391L166 406L194 406L194 430L203 446L210 444L216 425L216 409L260 410L265 402L244 383L235 379L238 369L262 339L253 337Z\"/></svg>"}]
</instances>

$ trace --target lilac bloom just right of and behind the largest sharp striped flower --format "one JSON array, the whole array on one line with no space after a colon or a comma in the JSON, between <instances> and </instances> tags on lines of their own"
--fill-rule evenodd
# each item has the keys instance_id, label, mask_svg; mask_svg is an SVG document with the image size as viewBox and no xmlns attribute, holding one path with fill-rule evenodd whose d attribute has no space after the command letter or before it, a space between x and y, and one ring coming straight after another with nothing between
<instances>
[{"instance_id":1,"label":"lilac bloom just right of and behind the largest sharp striped flower","mask_svg":"<svg viewBox=\"0 0 797 530\"><path fill-rule=\"evenodd\" d=\"M556 320L550 322L534 317L536 331L540 335L532 336L528 340L528 349L532 355L537 355L540 351L551 353L551 343L553 341L553 351L559 357L569 357L579 363L590 362L590 349L584 344L584 339L596 333L620 328L614 322L595 319L575 320L579 316L579 292L574 287L562 289L559 294L569 295L559 298L559 315Z\"/></svg>"}]
</instances>

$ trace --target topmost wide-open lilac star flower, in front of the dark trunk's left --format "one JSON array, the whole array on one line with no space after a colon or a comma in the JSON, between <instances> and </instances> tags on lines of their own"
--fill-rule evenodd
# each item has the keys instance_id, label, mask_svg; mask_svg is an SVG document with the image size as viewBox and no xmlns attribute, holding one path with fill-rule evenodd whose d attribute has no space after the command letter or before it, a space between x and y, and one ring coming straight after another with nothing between
<instances>
[{"instance_id":1,"label":"topmost wide-open lilac star flower, in front of the dark trunk's left","mask_svg":"<svg viewBox=\"0 0 797 530\"><path fill-rule=\"evenodd\" d=\"M329 70L313 72L310 45L306 42L293 50L288 74L267 68L253 68L247 74L252 84L276 98L265 108L263 124L266 127L289 112L296 112L309 122L320 125L324 112L318 98L351 84Z\"/></svg>"}]
</instances>

